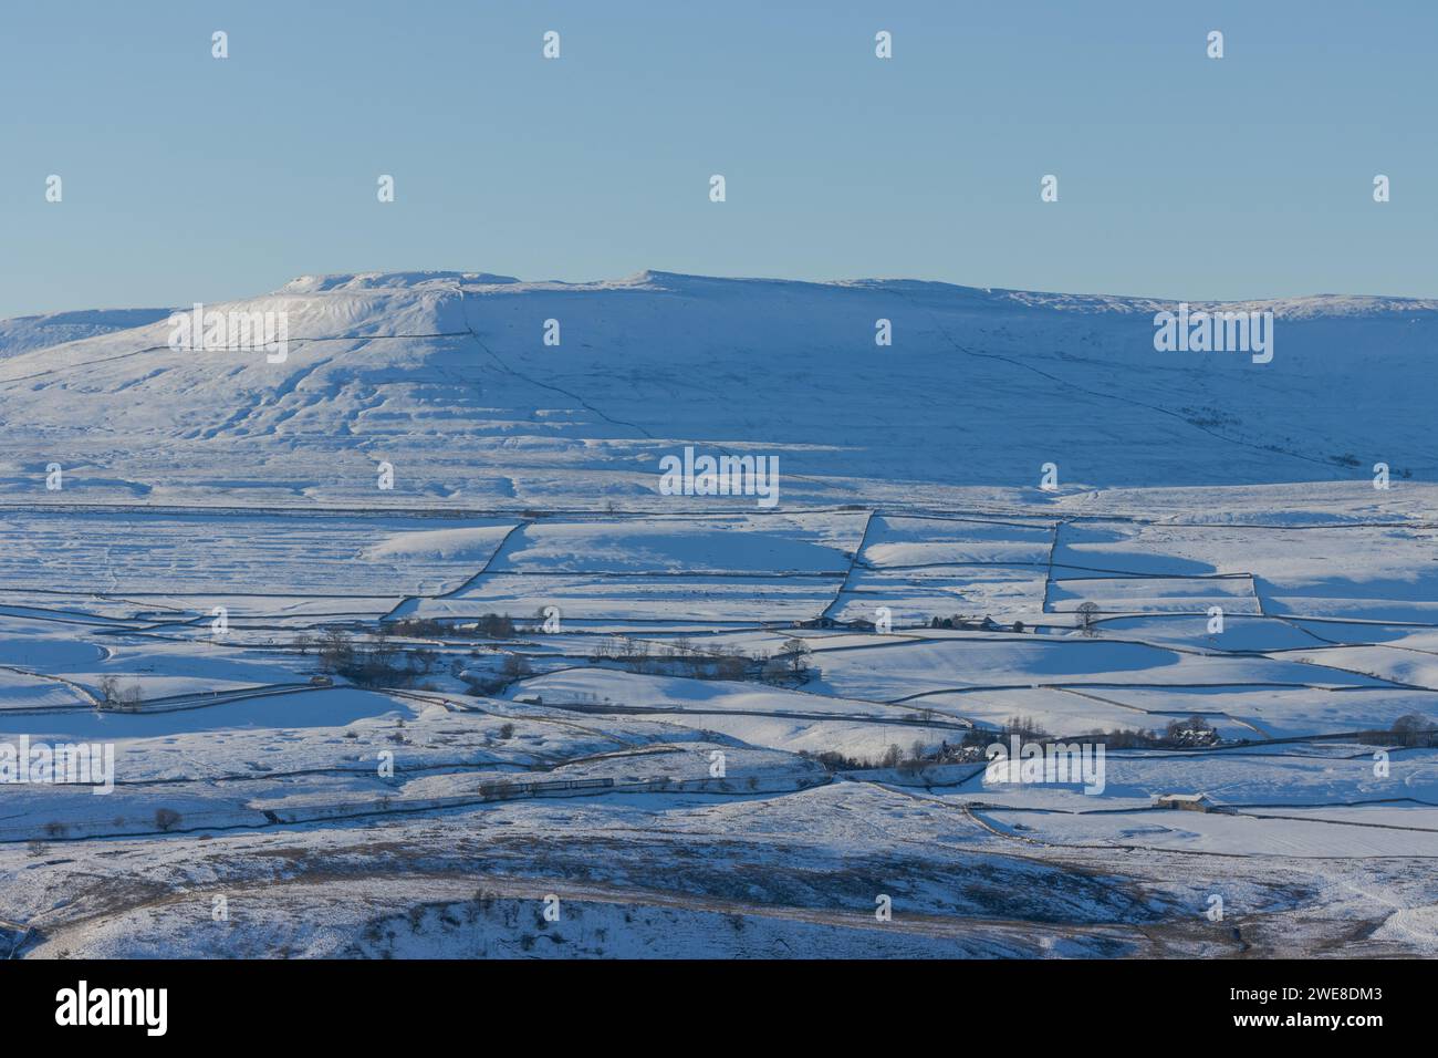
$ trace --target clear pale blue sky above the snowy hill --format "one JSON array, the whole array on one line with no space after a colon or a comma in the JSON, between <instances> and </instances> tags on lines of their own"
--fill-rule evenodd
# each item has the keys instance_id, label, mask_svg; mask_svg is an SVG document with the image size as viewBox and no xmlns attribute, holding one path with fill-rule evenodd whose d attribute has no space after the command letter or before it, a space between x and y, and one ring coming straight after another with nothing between
<instances>
[{"instance_id":1,"label":"clear pale blue sky above the snowy hill","mask_svg":"<svg viewBox=\"0 0 1438 1058\"><path fill-rule=\"evenodd\" d=\"M13 3L0 88L0 317L426 268L1438 295L1432 0Z\"/></svg>"}]
</instances>

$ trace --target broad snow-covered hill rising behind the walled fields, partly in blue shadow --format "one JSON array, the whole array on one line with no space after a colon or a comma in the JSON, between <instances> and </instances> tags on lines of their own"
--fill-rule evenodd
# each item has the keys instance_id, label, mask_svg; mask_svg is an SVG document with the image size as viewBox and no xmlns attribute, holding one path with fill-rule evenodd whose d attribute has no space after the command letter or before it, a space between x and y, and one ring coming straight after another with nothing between
<instances>
[{"instance_id":1,"label":"broad snow-covered hill rising behind the walled fields, partly in blue shadow","mask_svg":"<svg viewBox=\"0 0 1438 1058\"><path fill-rule=\"evenodd\" d=\"M0 363L0 497L59 462L75 501L640 507L684 445L779 456L787 504L1034 489L1045 462L1064 488L1438 472L1434 301L1235 307L1276 314L1267 364L1156 351L1168 302L916 281L365 273L209 308L286 312L286 360L173 350L160 318Z\"/></svg>"}]
</instances>

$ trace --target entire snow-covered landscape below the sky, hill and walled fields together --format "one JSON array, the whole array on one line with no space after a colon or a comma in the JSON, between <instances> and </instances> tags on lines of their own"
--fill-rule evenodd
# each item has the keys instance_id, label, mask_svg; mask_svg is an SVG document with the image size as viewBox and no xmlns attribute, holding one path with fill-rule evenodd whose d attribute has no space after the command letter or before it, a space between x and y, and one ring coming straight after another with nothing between
<instances>
[{"instance_id":1,"label":"entire snow-covered landscape below the sky, hill and walled fields together","mask_svg":"<svg viewBox=\"0 0 1438 1058\"><path fill-rule=\"evenodd\" d=\"M288 360L0 324L0 779L114 754L0 783L7 953L1438 954L1438 305L1267 366L920 282L232 307Z\"/></svg>"}]
</instances>

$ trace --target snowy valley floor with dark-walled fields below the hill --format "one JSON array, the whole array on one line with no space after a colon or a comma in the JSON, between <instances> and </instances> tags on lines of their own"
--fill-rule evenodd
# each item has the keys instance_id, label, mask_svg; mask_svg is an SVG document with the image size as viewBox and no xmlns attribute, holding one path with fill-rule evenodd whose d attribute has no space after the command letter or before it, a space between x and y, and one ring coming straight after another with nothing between
<instances>
[{"instance_id":1,"label":"snowy valley floor with dark-walled fields below the hill","mask_svg":"<svg viewBox=\"0 0 1438 1058\"><path fill-rule=\"evenodd\" d=\"M0 950L1438 954L1432 491L1283 488L6 508L0 746L114 772L0 783Z\"/></svg>"}]
</instances>

